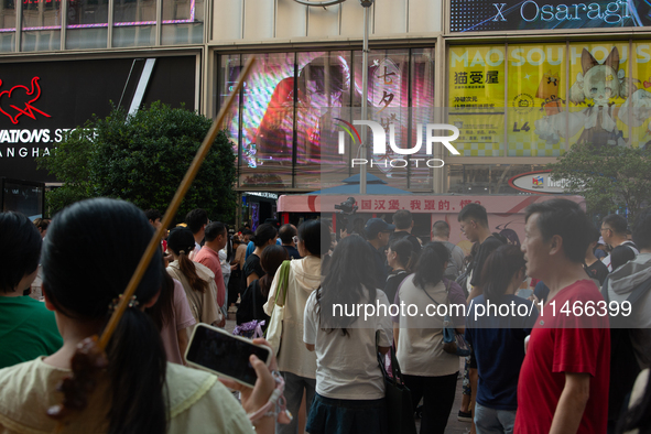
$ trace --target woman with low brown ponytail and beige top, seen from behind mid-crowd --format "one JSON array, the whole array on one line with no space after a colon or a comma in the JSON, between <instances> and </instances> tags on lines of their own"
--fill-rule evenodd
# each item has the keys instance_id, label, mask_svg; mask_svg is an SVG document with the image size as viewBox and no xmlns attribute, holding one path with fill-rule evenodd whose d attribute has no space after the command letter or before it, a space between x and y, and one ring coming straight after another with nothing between
<instances>
[{"instance_id":1,"label":"woman with low brown ponytail and beige top, seen from behind mid-crowd","mask_svg":"<svg viewBox=\"0 0 651 434\"><path fill-rule=\"evenodd\" d=\"M224 326L226 318L219 314L215 273L205 265L189 260L195 241L192 231L177 226L167 237L167 251L174 261L167 265L170 275L181 282L187 296L189 310L197 323ZM193 328L188 328L192 333Z\"/></svg>"}]
</instances>

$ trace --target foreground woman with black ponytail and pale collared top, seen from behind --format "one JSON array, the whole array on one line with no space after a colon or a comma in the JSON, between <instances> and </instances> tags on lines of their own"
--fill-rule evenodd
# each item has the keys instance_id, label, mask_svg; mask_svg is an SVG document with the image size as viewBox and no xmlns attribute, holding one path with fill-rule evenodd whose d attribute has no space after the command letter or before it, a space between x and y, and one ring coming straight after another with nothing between
<instances>
[{"instance_id":1,"label":"foreground woman with black ponytail and pale collared top, seen from behind","mask_svg":"<svg viewBox=\"0 0 651 434\"><path fill-rule=\"evenodd\" d=\"M77 344L101 333L153 236L144 214L107 198L76 203L56 215L43 247L43 294L54 311L63 347L48 357L0 370L0 432L54 432L46 410L61 402L56 384L70 373ZM275 386L264 364L242 406L211 373L169 364L159 330L144 312L159 297L163 261L156 250L106 348L108 367L96 379L67 433L252 433L247 412L260 409ZM273 432L273 419L257 422Z\"/></svg>"}]
</instances>

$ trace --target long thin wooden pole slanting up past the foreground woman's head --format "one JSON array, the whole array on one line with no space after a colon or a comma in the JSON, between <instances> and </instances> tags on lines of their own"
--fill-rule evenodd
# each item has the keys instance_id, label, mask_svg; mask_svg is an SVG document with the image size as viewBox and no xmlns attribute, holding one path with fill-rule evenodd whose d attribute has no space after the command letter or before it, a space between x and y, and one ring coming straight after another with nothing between
<instances>
[{"instance_id":1,"label":"long thin wooden pole slanting up past the foreground woman's head","mask_svg":"<svg viewBox=\"0 0 651 434\"><path fill-rule=\"evenodd\" d=\"M219 132L219 130L221 128L221 122L224 122L224 118L228 113L230 106L232 105L235 98L237 98L238 93L242 88L245 79L249 75L249 72L251 70L251 67L253 66L254 62L256 62L256 57L251 56L249 58L249 61L247 62L247 64L245 65L245 69L240 74L235 88L231 90L230 95L226 99L226 104L221 107L221 110L219 110L219 113L217 115L217 118L213 122L210 130L208 130L208 134L204 139L204 142L202 143L199 150L197 151L189 169L185 173L185 177L181 182L178 189L176 189L176 194L174 195L172 203L170 204L170 206L167 207L167 210L165 211L165 215L163 216L163 221L161 223L161 226L159 227L159 229L156 229L153 238L149 242L149 246L147 247L144 254L140 259L140 263L138 264L135 272L131 276L129 284L127 285L127 290L124 290L124 294L122 295L120 303L118 304L118 307L116 307L116 311L111 315L106 328L104 329L104 333L101 334L101 336L99 338L99 341L97 345L99 346L99 348L102 351L106 349L106 346L108 345L113 332L116 330L116 327L118 326L118 323L120 322L120 318L122 317L122 314L124 313L124 310L129 305L129 300L135 293L135 289L140 284L140 281L142 280L142 276L144 275L144 272L147 271L147 268L149 267L151 259L153 258L156 249L160 248L159 246L160 246L161 239L163 237L163 231L167 230L167 227L172 224L172 219L176 215L176 211L178 210L178 206L181 206L181 200L183 200L183 197L185 197L187 189L189 188L189 186L192 185L192 182L196 177L197 172L199 171L199 167L202 166L202 163L204 162L206 155L208 154L208 151L210 150L210 147L213 145L213 142L215 141L215 138L217 137L217 133Z\"/></svg>"}]
</instances>

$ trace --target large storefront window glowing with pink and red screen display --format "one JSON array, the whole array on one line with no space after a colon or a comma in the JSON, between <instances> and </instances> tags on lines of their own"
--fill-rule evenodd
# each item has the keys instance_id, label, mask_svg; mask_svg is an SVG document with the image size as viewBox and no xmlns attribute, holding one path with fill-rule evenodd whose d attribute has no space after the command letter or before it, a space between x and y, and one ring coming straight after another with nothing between
<instances>
[{"instance_id":1,"label":"large storefront window glowing with pink and red screen display","mask_svg":"<svg viewBox=\"0 0 651 434\"><path fill-rule=\"evenodd\" d=\"M394 140L413 148L416 123L431 122L434 104L434 50L382 50L369 54L369 120L395 128ZM220 101L247 56L221 57ZM302 52L258 55L239 109L231 108L227 128L239 142L240 186L322 189L341 185L358 173L359 140L345 139L339 153L341 119L360 119L361 52ZM419 104L415 110L408 108ZM241 119L241 120L240 120ZM408 128L412 124L412 128ZM393 152L392 150L390 152ZM423 154L423 155L421 155ZM432 169L384 165L377 155L369 174L403 189L432 191ZM406 159L424 158L421 153ZM270 183L270 184L269 184Z\"/></svg>"}]
</instances>

